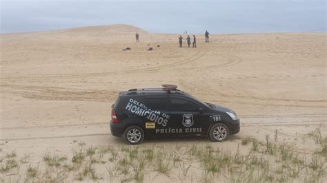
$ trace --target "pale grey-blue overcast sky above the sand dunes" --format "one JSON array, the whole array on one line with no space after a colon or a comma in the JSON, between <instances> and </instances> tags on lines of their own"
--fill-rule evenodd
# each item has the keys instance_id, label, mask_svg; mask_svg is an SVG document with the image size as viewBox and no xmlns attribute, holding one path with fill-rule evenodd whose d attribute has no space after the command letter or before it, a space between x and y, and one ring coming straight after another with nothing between
<instances>
[{"instance_id":1,"label":"pale grey-blue overcast sky above the sand dunes","mask_svg":"<svg viewBox=\"0 0 327 183\"><path fill-rule=\"evenodd\" d=\"M325 0L0 0L1 33L130 24L155 33L326 32Z\"/></svg>"}]
</instances>

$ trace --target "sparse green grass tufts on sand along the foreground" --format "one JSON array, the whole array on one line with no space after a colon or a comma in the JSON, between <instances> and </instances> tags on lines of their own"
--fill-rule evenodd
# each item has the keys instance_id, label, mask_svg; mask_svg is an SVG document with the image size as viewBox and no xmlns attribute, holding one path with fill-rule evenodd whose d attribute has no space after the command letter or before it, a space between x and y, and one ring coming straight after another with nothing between
<instances>
[{"instance_id":1,"label":"sparse green grass tufts on sand along the foreground","mask_svg":"<svg viewBox=\"0 0 327 183\"><path fill-rule=\"evenodd\" d=\"M30 155L12 151L0 157L1 180L17 175L26 182L143 182L158 175L183 182L324 182L326 138L317 141L315 153L301 152L295 144L279 142L278 132L264 141L238 140L231 149L208 144L161 146L78 146L71 155L45 152L38 164ZM25 173L21 174L23 169Z\"/></svg>"}]
</instances>

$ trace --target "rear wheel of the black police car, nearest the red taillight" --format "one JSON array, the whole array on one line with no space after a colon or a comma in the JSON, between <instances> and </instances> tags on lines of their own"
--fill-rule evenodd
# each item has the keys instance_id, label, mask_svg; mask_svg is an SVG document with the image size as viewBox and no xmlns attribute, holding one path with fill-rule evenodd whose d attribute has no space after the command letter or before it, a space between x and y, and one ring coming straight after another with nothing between
<instances>
[{"instance_id":1,"label":"rear wheel of the black police car, nearest the red taillight","mask_svg":"<svg viewBox=\"0 0 327 183\"><path fill-rule=\"evenodd\" d=\"M123 140L128 144L141 144L144 140L144 131L138 126L130 126L123 131Z\"/></svg>"}]
</instances>

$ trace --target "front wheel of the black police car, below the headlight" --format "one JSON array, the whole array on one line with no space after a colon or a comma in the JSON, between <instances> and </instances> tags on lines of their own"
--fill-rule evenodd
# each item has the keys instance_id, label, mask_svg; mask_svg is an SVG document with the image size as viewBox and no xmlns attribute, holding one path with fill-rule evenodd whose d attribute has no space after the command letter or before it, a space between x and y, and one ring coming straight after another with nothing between
<instances>
[{"instance_id":1,"label":"front wheel of the black police car, below the headlight","mask_svg":"<svg viewBox=\"0 0 327 183\"><path fill-rule=\"evenodd\" d=\"M229 135L229 129L224 123L212 125L209 131L209 138L213 142L221 142L226 140Z\"/></svg>"}]
</instances>

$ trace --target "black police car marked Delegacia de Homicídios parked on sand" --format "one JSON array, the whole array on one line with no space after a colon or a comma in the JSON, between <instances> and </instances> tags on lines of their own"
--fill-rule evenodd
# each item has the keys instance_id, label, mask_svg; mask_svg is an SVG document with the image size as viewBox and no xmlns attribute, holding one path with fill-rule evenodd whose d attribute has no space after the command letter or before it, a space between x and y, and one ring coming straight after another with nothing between
<instances>
[{"instance_id":1,"label":"black police car marked Delegacia de Homic\u00eddios parked on sand","mask_svg":"<svg viewBox=\"0 0 327 183\"><path fill-rule=\"evenodd\" d=\"M112 105L112 135L139 144L164 136L209 136L217 142L239 132L234 111L203 103L176 85L162 86L121 92Z\"/></svg>"}]
</instances>

